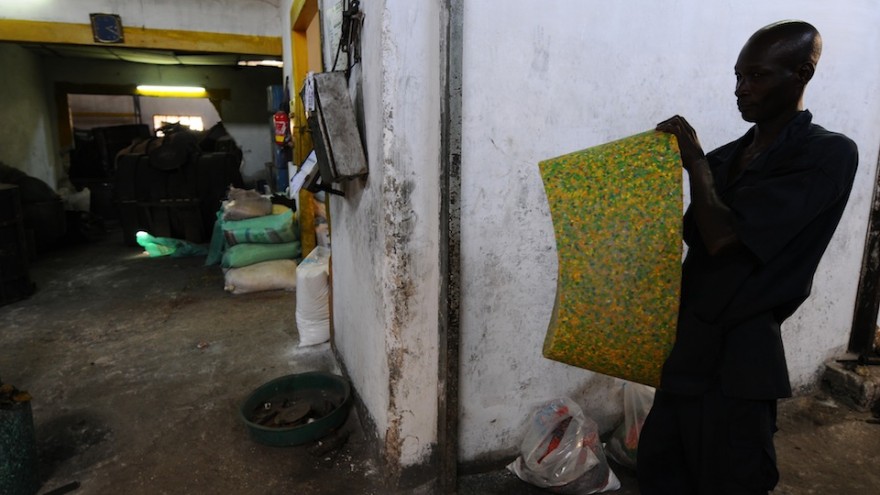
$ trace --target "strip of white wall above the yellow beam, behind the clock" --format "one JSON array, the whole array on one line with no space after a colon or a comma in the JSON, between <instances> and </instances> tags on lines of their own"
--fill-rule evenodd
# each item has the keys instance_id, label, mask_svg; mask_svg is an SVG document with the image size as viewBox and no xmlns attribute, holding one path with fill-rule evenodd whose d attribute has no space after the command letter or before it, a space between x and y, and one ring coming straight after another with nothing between
<instances>
[{"instance_id":1,"label":"strip of white wall above the yellow beam, behind the clock","mask_svg":"<svg viewBox=\"0 0 880 495\"><path fill-rule=\"evenodd\" d=\"M0 19L89 24L89 13L117 14L125 28L277 36L280 0L36 0L0 2Z\"/></svg>"}]
</instances>

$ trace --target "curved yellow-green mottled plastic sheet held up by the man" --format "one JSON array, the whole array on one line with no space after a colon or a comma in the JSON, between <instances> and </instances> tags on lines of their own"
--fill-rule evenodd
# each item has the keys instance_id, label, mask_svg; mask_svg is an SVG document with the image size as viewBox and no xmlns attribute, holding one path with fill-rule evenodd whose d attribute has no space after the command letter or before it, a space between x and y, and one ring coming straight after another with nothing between
<instances>
[{"instance_id":1,"label":"curved yellow-green mottled plastic sheet held up by the man","mask_svg":"<svg viewBox=\"0 0 880 495\"><path fill-rule=\"evenodd\" d=\"M559 252L544 356L656 386L681 281L681 159L659 132L540 163Z\"/></svg>"}]
</instances>

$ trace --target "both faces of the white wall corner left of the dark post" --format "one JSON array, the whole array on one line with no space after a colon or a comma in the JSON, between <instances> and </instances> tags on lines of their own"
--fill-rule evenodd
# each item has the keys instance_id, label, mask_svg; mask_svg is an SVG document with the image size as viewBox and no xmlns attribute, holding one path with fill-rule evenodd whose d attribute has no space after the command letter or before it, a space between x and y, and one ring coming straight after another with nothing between
<instances>
[{"instance_id":1,"label":"both faces of the white wall corner left of the dark post","mask_svg":"<svg viewBox=\"0 0 880 495\"><path fill-rule=\"evenodd\" d=\"M362 3L370 175L331 200L337 345L388 459L404 467L426 462L437 438L436 3Z\"/></svg>"}]
</instances>

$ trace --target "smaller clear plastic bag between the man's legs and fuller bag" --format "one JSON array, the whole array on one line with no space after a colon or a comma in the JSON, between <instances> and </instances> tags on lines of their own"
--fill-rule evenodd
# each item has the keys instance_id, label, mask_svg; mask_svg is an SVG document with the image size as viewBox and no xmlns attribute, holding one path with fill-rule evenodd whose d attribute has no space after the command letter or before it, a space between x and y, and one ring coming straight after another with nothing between
<instances>
[{"instance_id":1,"label":"smaller clear plastic bag between the man's legs and fuller bag","mask_svg":"<svg viewBox=\"0 0 880 495\"><path fill-rule=\"evenodd\" d=\"M654 404L654 387L626 382L623 385L623 423L608 440L608 457L621 466L636 468L639 435Z\"/></svg>"}]
</instances>

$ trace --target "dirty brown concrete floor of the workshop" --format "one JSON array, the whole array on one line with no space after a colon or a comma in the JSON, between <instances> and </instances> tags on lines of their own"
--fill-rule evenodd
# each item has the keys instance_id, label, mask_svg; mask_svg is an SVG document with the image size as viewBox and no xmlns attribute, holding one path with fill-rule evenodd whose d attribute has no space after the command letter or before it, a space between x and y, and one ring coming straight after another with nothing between
<instances>
[{"instance_id":1,"label":"dirty brown concrete floor of the workshop","mask_svg":"<svg viewBox=\"0 0 880 495\"><path fill-rule=\"evenodd\" d=\"M0 307L0 376L34 397L40 494L389 493L354 410L330 441L288 448L253 442L238 418L270 379L339 372L328 344L298 347L295 293L227 294L203 258L148 258L118 232L42 254L31 277L37 293ZM774 493L880 493L870 413L822 397L780 411ZM616 493L637 495L616 472ZM503 469L458 486L548 493Z\"/></svg>"}]
</instances>

